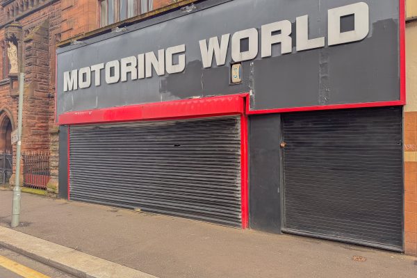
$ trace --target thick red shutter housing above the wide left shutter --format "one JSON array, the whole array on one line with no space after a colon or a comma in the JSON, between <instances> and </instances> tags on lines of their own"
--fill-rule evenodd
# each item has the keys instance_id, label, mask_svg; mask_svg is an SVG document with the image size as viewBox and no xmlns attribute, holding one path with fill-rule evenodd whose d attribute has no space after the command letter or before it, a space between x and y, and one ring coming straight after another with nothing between
<instances>
[{"instance_id":1,"label":"thick red shutter housing above the wide left shutter","mask_svg":"<svg viewBox=\"0 0 417 278\"><path fill-rule=\"evenodd\" d=\"M245 113L247 94L183 99L61 114L59 124L97 124L137 120L170 120Z\"/></svg>"}]
</instances>

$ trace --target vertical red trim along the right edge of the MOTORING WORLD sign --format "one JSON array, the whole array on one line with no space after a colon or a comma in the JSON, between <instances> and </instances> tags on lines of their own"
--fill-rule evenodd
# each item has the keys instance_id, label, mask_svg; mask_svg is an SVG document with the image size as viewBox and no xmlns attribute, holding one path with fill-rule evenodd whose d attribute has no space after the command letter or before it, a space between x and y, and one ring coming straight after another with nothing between
<instances>
[{"instance_id":1,"label":"vertical red trim along the right edge of the MOTORING WORLD sign","mask_svg":"<svg viewBox=\"0 0 417 278\"><path fill-rule=\"evenodd\" d=\"M400 99L406 104L405 0L400 0Z\"/></svg>"}]
</instances>

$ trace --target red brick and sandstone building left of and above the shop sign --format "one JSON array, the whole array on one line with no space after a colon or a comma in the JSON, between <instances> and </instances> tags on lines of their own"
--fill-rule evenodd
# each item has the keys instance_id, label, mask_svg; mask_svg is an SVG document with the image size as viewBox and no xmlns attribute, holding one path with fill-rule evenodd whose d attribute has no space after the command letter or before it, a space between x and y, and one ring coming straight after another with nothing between
<instances>
[{"instance_id":1,"label":"red brick and sandstone building left of and above the shop sign","mask_svg":"<svg viewBox=\"0 0 417 278\"><path fill-rule=\"evenodd\" d=\"M19 71L25 74L22 152L50 153L49 186L54 190L58 182L58 129L54 118L56 44L128 17L146 15L175 2L177 1L1 1L0 152L15 150L10 143L10 134L17 125L18 72L9 71L8 42L17 47ZM124 12L117 13L117 10ZM10 183L14 183L13 174L6 179L9 178Z\"/></svg>"}]
</instances>

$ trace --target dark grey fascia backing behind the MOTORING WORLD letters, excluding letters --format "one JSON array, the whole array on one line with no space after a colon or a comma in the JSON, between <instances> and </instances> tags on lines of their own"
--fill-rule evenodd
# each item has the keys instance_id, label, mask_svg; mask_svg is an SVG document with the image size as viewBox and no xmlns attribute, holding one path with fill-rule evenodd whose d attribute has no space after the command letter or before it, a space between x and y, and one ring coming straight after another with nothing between
<instances>
[{"instance_id":1,"label":"dark grey fascia backing behind the MOTORING WORLD letters, excluding letters","mask_svg":"<svg viewBox=\"0 0 417 278\"><path fill-rule=\"evenodd\" d=\"M207 0L190 13L174 10L58 51L58 114L190 97L250 92L251 109L354 104L400 99L399 2L363 0L370 7L370 32L360 42L295 51L295 18L309 15L309 37L327 37L327 10L359 0ZM221 3L224 2L224 3ZM220 3L220 4L219 4ZM288 19L293 53L243 63L243 82L229 84L226 65L203 69L199 40ZM349 22L342 21L342 29ZM261 35L259 35L261 38ZM261 41L261 40L259 40ZM63 72L147 51L186 44L186 70L152 78L63 92ZM260 49L260 47L259 47ZM94 83L94 76L92 77Z\"/></svg>"}]
</instances>

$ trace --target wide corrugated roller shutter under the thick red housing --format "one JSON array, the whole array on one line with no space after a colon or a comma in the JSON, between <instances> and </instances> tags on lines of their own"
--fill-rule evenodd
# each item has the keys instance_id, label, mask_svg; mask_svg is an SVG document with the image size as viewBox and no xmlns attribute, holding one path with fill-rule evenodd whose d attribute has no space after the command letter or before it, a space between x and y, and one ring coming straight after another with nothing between
<instances>
[{"instance_id":1,"label":"wide corrugated roller shutter under the thick red housing","mask_svg":"<svg viewBox=\"0 0 417 278\"><path fill-rule=\"evenodd\" d=\"M70 197L240 226L239 117L71 126Z\"/></svg>"}]
</instances>

